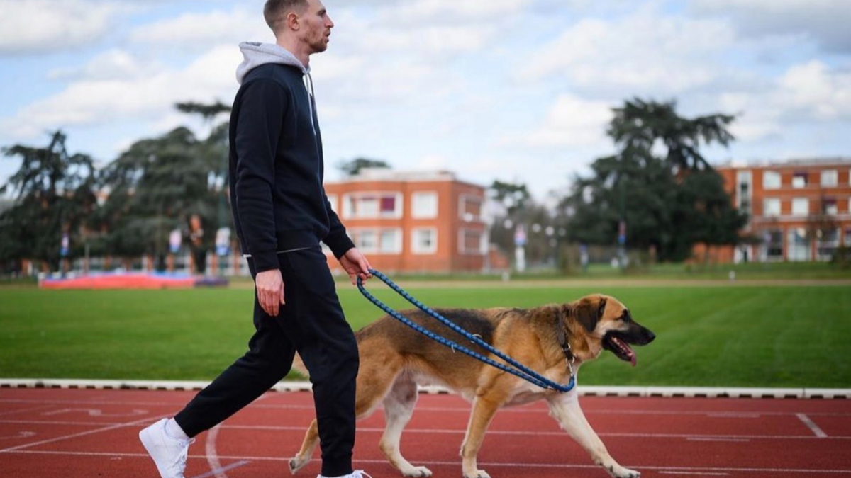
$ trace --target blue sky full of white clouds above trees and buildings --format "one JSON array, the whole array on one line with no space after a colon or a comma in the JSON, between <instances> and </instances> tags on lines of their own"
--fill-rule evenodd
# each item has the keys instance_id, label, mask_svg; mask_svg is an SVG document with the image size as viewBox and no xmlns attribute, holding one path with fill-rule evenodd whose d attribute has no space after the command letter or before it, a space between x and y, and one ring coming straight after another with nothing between
<instances>
[{"instance_id":1,"label":"blue sky full of white clouds above trees and buildings","mask_svg":"<svg viewBox=\"0 0 851 478\"><path fill-rule=\"evenodd\" d=\"M851 156L851 2L325 0L311 58L328 179L366 156L397 169L528 185L543 198L594 158L624 100L738 115L712 162ZM0 0L0 145L101 165L203 124L174 103L237 90L237 43L273 42L262 0ZM0 157L0 184L18 163Z\"/></svg>"}]
</instances>

